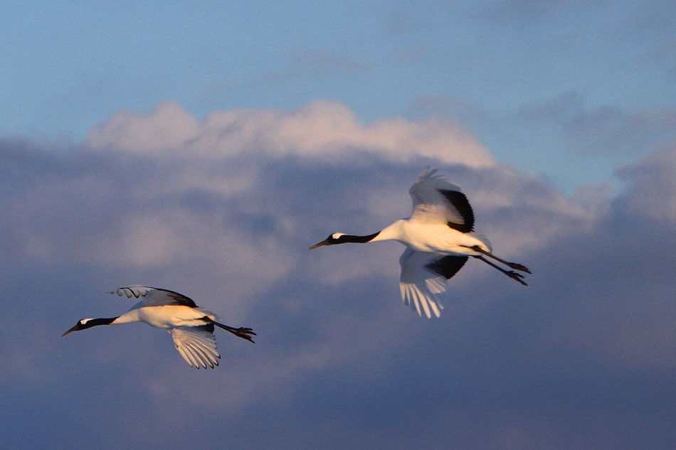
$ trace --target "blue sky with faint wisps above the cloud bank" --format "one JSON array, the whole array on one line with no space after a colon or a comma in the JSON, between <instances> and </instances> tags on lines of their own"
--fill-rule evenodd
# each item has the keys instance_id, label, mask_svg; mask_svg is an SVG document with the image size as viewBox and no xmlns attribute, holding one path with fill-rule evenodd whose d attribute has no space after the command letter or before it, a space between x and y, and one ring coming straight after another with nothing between
<instances>
[{"instance_id":1,"label":"blue sky with faint wisps above the cloud bank","mask_svg":"<svg viewBox=\"0 0 676 450\"><path fill-rule=\"evenodd\" d=\"M203 118L326 99L366 122L458 119L571 192L674 136L672 6L18 1L0 18L0 131L77 142L165 100Z\"/></svg>"}]
</instances>

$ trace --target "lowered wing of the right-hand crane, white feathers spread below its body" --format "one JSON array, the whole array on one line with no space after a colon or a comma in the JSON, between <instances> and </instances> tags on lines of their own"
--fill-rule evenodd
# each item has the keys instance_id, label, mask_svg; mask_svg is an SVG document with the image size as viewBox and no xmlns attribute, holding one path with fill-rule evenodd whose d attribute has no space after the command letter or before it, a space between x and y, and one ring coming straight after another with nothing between
<instances>
[{"instance_id":1,"label":"lowered wing of the right-hand crane, white feathers spread below its body","mask_svg":"<svg viewBox=\"0 0 676 450\"><path fill-rule=\"evenodd\" d=\"M399 289L403 304L428 318L439 317L443 309L446 280L458 273L468 257L439 256L407 248L399 257Z\"/></svg>"}]
</instances>

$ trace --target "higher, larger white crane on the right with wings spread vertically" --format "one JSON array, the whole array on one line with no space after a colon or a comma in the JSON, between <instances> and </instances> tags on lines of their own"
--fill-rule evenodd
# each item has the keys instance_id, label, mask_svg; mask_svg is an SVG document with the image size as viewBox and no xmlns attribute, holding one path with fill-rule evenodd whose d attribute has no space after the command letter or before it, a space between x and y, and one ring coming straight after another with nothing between
<instances>
[{"instance_id":1,"label":"higher, larger white crane on the right with wings spread vertically","mask_svg":"<svg viewBox=\"0 0 676 450\"><path fill-rule=\"evenodd\" d=\"M413 199L413 212L408 219L397 220L383 230L368 236L333 233L327 239L310 247L356 242L397 240L406 245L399 258L401 265L401 299L411 309L427 317L439 317L441 300L446 290L446 280L458 273L468 257L481 259L527 286L524 276L503 269L485 257L495 259L507 267L531 273L529 269L514 262L507 262L491 254L487 238L475 233L472 207L460 192L460 188L435 175L435 170L425 168L408 191Z\"/></svg>"}]
</instances>

